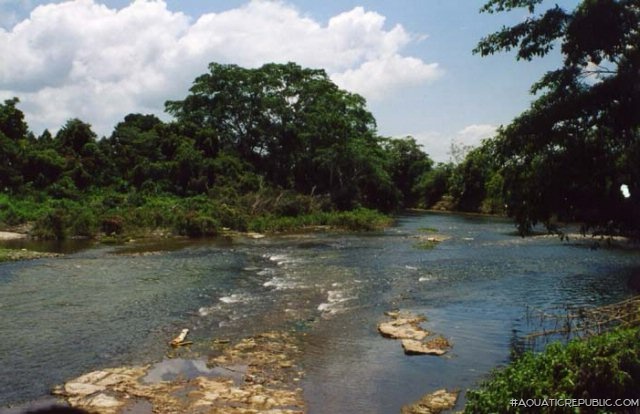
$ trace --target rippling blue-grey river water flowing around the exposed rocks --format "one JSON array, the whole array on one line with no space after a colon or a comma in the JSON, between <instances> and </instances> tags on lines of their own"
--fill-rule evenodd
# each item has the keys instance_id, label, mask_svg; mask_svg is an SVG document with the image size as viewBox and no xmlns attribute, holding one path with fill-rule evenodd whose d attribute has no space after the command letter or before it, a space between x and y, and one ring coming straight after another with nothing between
<instances>
[{"instance_id":1,"label":"rippling blue-grey river water flowing around the exposed rocks","mask_svg":"<svg viewBox=\"0 0 640 414\"><path fill-rule=\"evenodd\" d=\"M1 264L0 407L94 369L160 361L184 327L192 356L206 356L212 338L304 335L312 414L397 413L439 388L464 391L536 328L529 307L624 299L640 269L637 251L513 230L495 218L421 214L374 233L99 246ZM450 238L417 247L432 234ZM404 355L376 331L391 309L426 315L450 353Z\"/></svg>"}]
</instances>

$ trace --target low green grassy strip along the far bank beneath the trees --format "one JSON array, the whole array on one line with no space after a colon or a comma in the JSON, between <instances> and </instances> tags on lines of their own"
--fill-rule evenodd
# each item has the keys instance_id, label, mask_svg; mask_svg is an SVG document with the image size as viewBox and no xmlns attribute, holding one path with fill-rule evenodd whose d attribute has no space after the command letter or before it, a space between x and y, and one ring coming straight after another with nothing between
<instances>
[{"instance_id":1,"label":"low green grassy strip along the far bank beneath the trees","mask_svg":"<svg viewBox=\"0 0 640 414\"><path fill-rule=\"evenodd\" d=\"M283 195L284 194L284 195ZM120 242L132 238L209 237L228 231L283 233L318 228L375 230L392 223L376 210L338 211L322 198L281 193L220 200L133 194L87 194L82 199L0 197L0 229L28 227L35 239ZM324 203L324 204L323 204ZM9 234L9 233L7 233Z\"/></svg>"}]
</instances>

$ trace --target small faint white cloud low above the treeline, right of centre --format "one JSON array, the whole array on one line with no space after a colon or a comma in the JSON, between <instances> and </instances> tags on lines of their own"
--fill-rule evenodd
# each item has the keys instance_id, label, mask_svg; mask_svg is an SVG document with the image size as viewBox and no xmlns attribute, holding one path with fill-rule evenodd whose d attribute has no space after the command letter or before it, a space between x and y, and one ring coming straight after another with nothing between
<instances>
[{"instance_id":1,"label":"small faint white cloud low above the treeline, right of centre","mask_svg":"<svg viewBox=\"0 0 640 414\"><path fill-rule=\"evenodd\" d=\"M422 145L422 150L429 154L433 160L448 162L452 160L452 145L477 147L482 143L483 139L493 137L497 129L497 126L490 124L472 124L452 135L426 131L412 134L412 136L418 144Z\"/></svg>"}]
</instances>

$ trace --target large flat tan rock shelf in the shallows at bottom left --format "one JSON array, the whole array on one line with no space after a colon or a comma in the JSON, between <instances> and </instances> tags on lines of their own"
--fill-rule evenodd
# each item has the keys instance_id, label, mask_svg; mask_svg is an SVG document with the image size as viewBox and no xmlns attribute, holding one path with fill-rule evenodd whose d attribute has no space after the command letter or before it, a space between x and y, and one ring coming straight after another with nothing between
<instances>
[{"instance_id":1,"label":"large flat tan rock shelf in the shallows at bottom left","mask_svg":"<svg viewBox=\"0 0 640 414\"><path fill-rule=\"evenodd\" d=\"M129 412L140 404L157 413L302 414L302 390L293 381L301 373L291 369L299 354L292 335L270 332L225 347L212 359L230 372L247 367L249 381L198 376L147 382L148 366L121 367L90 372L54 392L73 407L101 414Z\"/></svg>"}]
</instances>

